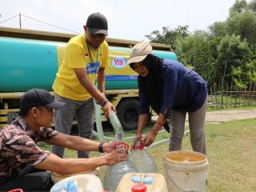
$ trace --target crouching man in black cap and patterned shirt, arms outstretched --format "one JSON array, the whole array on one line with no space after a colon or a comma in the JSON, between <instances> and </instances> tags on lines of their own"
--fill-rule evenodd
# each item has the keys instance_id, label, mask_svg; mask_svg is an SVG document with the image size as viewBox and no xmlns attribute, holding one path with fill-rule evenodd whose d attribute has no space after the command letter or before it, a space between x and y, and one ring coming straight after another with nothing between
<instances>
[{"instance_id":1,"label":"crouching man in black cap and patterned shirt, arms outstretched","mask_svg":"<svg viewBox=\"0 0 256 192\"><path fill-rule=\"evenodd\" d=\"M75 174L127 160L126 154L114 150L115 142L100 144L51 129L54 110L64 105L54 101L46 90L28 90L22 96L20 116L0 133L0 191L17 188L49 191L54 182L46 170L62 175ZM37 142L71 150L99 150L106 154L96 158L58 158L50 151L40 149Z\"/></svg>"}]
</instances>

